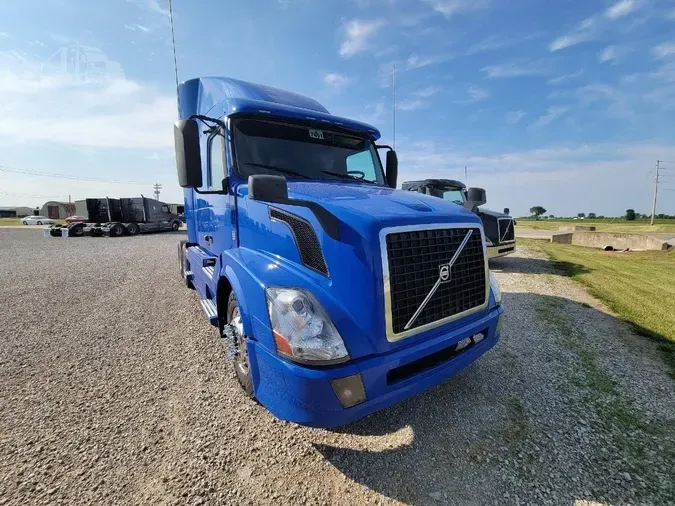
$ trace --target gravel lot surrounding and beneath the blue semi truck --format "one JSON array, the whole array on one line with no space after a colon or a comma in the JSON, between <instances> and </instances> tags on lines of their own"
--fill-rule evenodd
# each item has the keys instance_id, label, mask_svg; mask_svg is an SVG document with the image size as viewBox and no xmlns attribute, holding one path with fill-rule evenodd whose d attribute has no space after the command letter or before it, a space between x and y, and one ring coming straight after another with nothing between
<instances>
[{"instance_id":1,"label":"gravel lot surrounding and beneath the blue semi truck","mask_svg":"<svg viewBox=\"0 0 675 506\"><path fill-rule=\"evenodd\" d=\"M326 431L240 392L179 238L0 229L0 505L675 502L656 344L533 252L493 265L494 350Z\"/></svg>"}]
</instances>

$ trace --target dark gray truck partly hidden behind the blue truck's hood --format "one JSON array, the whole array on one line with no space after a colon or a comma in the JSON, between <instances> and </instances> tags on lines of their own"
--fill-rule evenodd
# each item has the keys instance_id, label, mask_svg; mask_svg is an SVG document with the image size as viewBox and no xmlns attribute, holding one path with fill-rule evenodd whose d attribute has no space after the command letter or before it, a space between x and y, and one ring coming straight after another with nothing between
<instances>
[{"instance_id":1,"label":"dark gray truck partly hidden behind the blue truck's hood","mask_svg":"<svg viewBox=\"0 0 675 506\"><path fill-rule=\"evenodd\" d=\"M508 209L499 213L480 208L487 202L484 189L467 188L454 179L406 181L402 189L449 200L477 214L483 222L488 258L503 257L516 251L515 221L509 216Z\"/></svg>"}]
</instances>

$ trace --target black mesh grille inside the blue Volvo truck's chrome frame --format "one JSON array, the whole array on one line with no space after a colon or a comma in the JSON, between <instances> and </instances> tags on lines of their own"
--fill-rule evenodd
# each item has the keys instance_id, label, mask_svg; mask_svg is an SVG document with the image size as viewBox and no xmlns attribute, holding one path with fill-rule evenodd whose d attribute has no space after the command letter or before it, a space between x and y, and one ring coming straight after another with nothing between
<instances>
[{"instance_id":1,"label":"black mesh grille inside the blue Volvo truck's chrome frame","mask_svg":"<svg viewBox=\"0 0 675 506\"><path fill-rule=\"evenodd\" d=\"M462 240L473 231L451 268L450 279L440 284L421 313L406 329L439 279ZM387 338L402 339L477 311L487 303L487 268L481 229L454 226L393 229L384 234L385 311Z\"/></svg>"}]
</instances>

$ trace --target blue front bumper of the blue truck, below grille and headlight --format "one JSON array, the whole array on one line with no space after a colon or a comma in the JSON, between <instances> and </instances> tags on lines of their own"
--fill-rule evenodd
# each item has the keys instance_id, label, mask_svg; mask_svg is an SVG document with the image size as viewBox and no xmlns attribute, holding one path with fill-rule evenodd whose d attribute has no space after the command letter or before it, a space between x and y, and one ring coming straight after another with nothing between
<instances>
[{"instance_id":1,"label":"blue front bumper of the blue truck, below grille and headlight","mask_svg":"<svg viewBox=\"0 0 675 506\"><path fill-rule=\"evenodd\" d=\"M499 339L497 325L502 313L503 309L497 307L483 318L452 332L385 355L326 368L303 367L283 360L251 340L249 359L256 398L282 420L312 427L344 425L459 373L496 344ZM447 356L445 352L450 347L477 333L485 336L480 342L446 360L432 360ZM401 371L406 374L398 374ZM354 374L361 375L366 401L343 408L330 380Z\"/></svg>"}]
</instances>

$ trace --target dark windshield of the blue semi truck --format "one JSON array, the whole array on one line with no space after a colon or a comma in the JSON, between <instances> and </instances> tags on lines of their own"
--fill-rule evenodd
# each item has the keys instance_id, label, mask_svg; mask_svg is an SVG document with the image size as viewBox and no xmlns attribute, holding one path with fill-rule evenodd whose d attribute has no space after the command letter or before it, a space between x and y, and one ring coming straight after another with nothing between
<instances>
[{"instance_id":1,"label":"dark windshield of the blue semi truck","mask_svg":"<svg viewBox=\"0 0 675 506\"><path fill-rule=\"evenodd\" d=\"M366 137L278 121L234 122L238 175L360 181L384 185L373 142Z\"/></svg>"}]
</instances>

